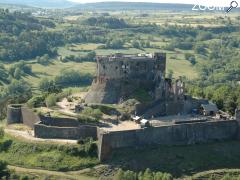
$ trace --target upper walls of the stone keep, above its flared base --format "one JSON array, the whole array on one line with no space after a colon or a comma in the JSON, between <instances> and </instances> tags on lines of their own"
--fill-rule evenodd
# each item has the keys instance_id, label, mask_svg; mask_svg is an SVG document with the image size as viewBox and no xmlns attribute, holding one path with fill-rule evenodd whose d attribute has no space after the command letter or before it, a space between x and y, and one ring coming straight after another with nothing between
<instances>
[{"instance_id":1,"label":"upper walls of the stone keep, above its flared base","mask_svg":"<svg viewBox=\"0 0 240 180\"><path fill-rule=\"evenodd\" d=\"M104 79L152 80L157 74L165 77L166 54L115 54L97 57L97 81Z\"/></svg>"}]
</instances>

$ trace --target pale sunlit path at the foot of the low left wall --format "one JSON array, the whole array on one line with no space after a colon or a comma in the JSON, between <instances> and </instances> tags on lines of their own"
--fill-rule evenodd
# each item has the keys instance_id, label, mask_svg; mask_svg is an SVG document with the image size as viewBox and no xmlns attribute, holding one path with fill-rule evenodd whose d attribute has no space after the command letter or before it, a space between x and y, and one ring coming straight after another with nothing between
<instances>
[{"instance_id":1,"label":"pale sunlit path at the foot of the low left wall","mask_svg":"<svg viewBox=\"0 0 240 180\"><path fill-rule=\"evenodd\" d=\"M14 129L5 128L5 133L17 138L24 139L28 142L46 142L46 143L57 143L57 144L76 144L76 140L67 140L67 139L41 139L35 138L32 130L19 131Z\"/></svg>"}]
</instances>

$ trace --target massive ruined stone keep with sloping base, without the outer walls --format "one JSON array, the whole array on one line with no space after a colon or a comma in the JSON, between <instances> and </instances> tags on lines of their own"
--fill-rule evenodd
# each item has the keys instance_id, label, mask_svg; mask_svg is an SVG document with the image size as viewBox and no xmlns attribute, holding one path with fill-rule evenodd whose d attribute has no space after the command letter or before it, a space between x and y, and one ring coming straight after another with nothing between
<instances>
[{"instance_id":1,"label":"massive ruined stone keep with sloping base, without the outer walls","mask_svg":"<svg viewBox=\"0 0 240 180\"><path fill-rule=\"evenodd\" d=\"M183 83L165 78L165 53L101 56L96 69L86 103L116 104L137 89L145 89L155 101L183 98Z\"/></svg>"}]
</instances>

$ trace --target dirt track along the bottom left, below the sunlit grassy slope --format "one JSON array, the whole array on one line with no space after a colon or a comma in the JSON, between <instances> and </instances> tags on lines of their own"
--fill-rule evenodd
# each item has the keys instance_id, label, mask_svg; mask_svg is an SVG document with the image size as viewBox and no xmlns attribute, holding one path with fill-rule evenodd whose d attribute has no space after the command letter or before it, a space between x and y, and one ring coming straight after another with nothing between
<instances>
[{"instance_id":1,"label":"dirt track along the bottom left, below the sunlit grassy slope","mask_svg":"<svg viewBox=\"0 0 240 180\"><path fill-rule=\"evenodd\" d=\"M28 174L33 175L37 177L43 177L43 176L50 176L52 178L56 179L66 179L66 180L96 180L95 177L89 177L82 175L84 171L70 171L70 172L58 172L58 171L48 171L48 170L41 170L41 169L28 169L28 168L22 168L17 166L8 166L10 170L14 170L16 173L19 174Z\"/></svg>"}]
</instances>

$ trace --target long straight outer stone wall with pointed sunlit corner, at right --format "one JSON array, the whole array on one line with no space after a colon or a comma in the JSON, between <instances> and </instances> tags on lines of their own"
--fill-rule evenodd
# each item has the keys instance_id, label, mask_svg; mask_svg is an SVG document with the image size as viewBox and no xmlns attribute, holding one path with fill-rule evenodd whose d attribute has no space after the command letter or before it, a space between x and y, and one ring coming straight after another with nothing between
<instances>
[{"instance_id":1,"label":"long straight outer stone wall with pointed sunlit corner, at right","mask_svg":"<svg viewBox=\"0 0 240 180\"><path fill-rule=\"evenodd\" d=\"M143 145L188 145L236 139L238 122L209 121L152 127L131 131L103 132L98 130L99 159L106 160L112 150Z\"/></svg>"}]
</instances>

